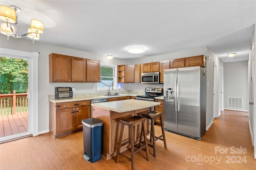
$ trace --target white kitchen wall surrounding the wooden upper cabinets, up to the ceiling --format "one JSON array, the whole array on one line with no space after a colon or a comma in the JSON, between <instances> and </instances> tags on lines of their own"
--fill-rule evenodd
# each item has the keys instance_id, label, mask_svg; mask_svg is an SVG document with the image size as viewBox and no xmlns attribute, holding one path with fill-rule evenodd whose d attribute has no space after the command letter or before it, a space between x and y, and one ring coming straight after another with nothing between
<instances>
[{"instance_id":1,"label":"white kitchen wall surrounding the wooden upper cabinets, up to the ceiling","mask_svg":"<svg viewBox=\"0 0 256 170\"><path fill-rule=\"evenodd\" d=\"M207 60L207 81L212 82L212 63L213 61L216 63L220 63L222 65L222 61L218 59L218 57L210 51L207 47L201 47L197 49L191 49L187 51L180 51L176 53L170 53L165 55L157 55L150 56L143 59L135 59L131 61L122 60L122 59L112 59L108 60L104 55L98 55L93 53L88 53L84 51L78 51L74 49L68 49L64 47L58 47L55 45L49 45L40 42L32 43L31 40L18 39L10 37L7 40L6 36L0 36L0 47L15 49L20 51L28 51L28 52L40 52L38 59L38 131L47 132L49 129L49 102L48 95L54 95L54 87L60 86L69 86L75 87L75 93L95 93L96 92L96 83L49 83L49 58L48 55L50 53L59 53L64 55L71 55L75 57L84 57L88 59L96 59L100 60L101 63L108 63L114 65L120 64L140 64L140 63L148 63L153 61L162 61L167 59L176 59L182 57L191 57L196 55L210 55L211 59ZM145 87L152 87L152 85L143 85L140 83L122 83L122 91L144 91ZM154 85L154 87L162 88L163 85ZM207 105L206 105L206 127L210 127L211 122L213 120L212 117L212 85L210 85L207 89Z\"/></svg>"}]
</instances>

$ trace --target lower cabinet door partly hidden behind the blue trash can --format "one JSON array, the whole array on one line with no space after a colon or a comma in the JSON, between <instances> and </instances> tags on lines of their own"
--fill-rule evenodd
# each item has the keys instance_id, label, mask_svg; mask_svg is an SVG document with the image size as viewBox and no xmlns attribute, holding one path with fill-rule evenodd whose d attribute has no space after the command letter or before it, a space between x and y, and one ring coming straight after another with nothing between
<instances>
[{"instance_id":1,"label":"lower cabinet door partly hidden behind the blue trash can","mask_svg":"<svg viewBox=\"0 0 256 170\"><path fill-rule=\"evenodd\" d=\"M83 106L76 108L76 129L82 128L82 120L90 118L90 106Z\"/></svg>"}]
</instances>

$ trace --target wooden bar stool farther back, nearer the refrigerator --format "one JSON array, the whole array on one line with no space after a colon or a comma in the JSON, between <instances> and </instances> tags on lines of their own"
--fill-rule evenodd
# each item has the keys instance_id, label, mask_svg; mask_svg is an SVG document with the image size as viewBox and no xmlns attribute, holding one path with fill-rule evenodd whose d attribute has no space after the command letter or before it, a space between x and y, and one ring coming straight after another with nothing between
<instances>
[{"instance_id":1,"label":"wooden bar stool farther back, nearer the refrigerator","mask_svg":"<svg viewBox=\"0 0 256 170\"><path fill-rule=\"evenodd\" d=\"M152 111L150 113L144 113L144 114L142 114L142 116L151 120L150 131L148 131L146 134L148 135L150 133L150 142L151 142L151 139L152 139L153 140L153 145L148 144L148 146L151 146L153 148L154 157L156 157L156 140L158 140L158 139L164 140L164 148L167 148L165 134L164 134L163 113L158 112L158 111ZM154 128L155 119L157 119L157 118L160 118L161 128L162 128L162 135L159 136L159 137L155 136L155 128ZM141 138L140 138L140 142L141 142Z\"/></svg>"}]
</instances>

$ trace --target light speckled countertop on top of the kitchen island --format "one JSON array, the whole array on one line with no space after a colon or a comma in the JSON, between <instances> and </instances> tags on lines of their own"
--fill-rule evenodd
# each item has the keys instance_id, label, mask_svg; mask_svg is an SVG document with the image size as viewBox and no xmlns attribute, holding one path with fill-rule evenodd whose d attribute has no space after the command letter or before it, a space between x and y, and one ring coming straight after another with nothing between
<instances>
[{"instance_id":1,"label":"light speckled countertop on top of the kitchen island","mask_svg":"<svg viewBox=\"0 0 256 170\"><path fill-rule=\"evenodd\" d=\"M120 101L111 101L111 102L104 102L104 103L92 103L93 107L99 107L102 109L115 111L115 112L127 112L127 111L134 111L138 109L144 109L156 105L160 105L159 102L153 101L144 101L144 100L120 100Z\"/></svg>"}]
</instances>

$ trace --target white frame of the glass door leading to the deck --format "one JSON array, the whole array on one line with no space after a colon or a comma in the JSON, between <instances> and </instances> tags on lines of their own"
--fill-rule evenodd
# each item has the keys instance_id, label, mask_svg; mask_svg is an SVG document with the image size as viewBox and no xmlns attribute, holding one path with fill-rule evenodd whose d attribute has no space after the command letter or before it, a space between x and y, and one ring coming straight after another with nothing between
<instances>
[{"instance_id":1,"label":"white frame of the glass door leading to the deck","mask_svg":"<svg viewBox=\"0 0 256 170\"><path fill-rule=\"evenodd\" d=\"M39 53L0 48L1 57L28 60L28 132L0 138L0 142L38 135L38 56Z\"/></svg>"}]
</instances>

